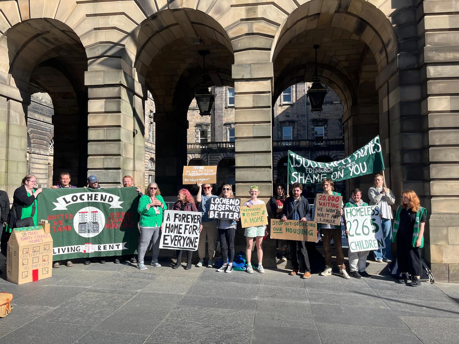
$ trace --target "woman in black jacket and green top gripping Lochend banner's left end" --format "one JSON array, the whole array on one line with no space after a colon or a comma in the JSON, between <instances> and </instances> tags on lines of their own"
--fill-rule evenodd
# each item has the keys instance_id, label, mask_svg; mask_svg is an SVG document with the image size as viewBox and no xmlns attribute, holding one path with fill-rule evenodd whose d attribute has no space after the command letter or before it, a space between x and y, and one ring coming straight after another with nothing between
<instances>
[{"instance_id":1,"label":"woman in black jacket and green top gripping Lochend banner's left end","mask_svg":"<svg viewBox=\"0 0 459 344\"><path fill-rule=\"evenodd\" d=\"M9 211L7 225L4 230L5 234L2 235L1 240L1 253L5 256L6 244L10 239L13 228L36 226L38 223L37 197L42 192L42 189L35 188L36 183L37 178L32 174L28 174L22 178L21 186L14 190L13 206ZM3 214L2 218L4 218Z\"/></svg>"}]
</instances>

